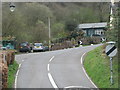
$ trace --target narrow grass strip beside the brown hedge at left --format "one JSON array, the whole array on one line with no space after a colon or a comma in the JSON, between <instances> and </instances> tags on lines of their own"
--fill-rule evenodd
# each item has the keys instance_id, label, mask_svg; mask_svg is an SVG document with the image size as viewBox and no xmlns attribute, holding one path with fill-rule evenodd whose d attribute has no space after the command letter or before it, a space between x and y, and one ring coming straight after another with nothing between
<instances>
[{"instance_id":1,"label":"narrow grass strip beside the brown hedge at left","mask_svg":"<svg viewBox=\"0 0 120 90\"><path fill-rule=\"evenodd\" d=\"M13 84L15 81L15 74L18 70L18 64L14 61L13 65L9 65L8 67L8 88L13 88Z\"/></svg>"}]
</instances>

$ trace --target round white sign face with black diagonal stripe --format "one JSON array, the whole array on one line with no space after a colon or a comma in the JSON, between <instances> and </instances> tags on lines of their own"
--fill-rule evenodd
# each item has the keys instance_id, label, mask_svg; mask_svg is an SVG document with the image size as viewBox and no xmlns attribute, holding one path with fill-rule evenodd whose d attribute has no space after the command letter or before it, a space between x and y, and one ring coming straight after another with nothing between
<instances>
[{"instance_id":1,"label":"round white sign face with black diagonal stripe","mask_svg":"<svg viewBox=\"0 0 120 90\"><path fill-rule=\"evenodd\" d=\"M114 57L117 54L117 48L115 45L108 45L105 49L105 53L109 57Z\"/></svg>"}]
</instances>

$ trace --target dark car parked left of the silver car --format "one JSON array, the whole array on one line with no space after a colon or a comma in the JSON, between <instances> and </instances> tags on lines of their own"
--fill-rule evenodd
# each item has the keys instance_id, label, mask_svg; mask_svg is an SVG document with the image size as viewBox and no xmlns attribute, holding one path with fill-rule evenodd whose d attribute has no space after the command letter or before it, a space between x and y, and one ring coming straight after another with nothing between
<instances>
[{"instance_id":1,"label":"dark car parked left of the silver car","mask_svg":"<svg viewBox=\"0 0 120 90\"><path fill-rule=\"evenodd\" d=\"M19 47L20 52L31 52L31 47L28 42L23 42Z\"/></svg>"}]
</instances>

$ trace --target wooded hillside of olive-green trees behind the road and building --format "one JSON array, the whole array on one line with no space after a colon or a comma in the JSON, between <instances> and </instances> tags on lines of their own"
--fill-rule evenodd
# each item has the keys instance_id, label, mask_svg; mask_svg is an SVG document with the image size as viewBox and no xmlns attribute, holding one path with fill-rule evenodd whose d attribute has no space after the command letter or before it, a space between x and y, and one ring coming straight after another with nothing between
<instances>
[{"instance_id":1,"label":"wooded hillside of olive-green trees behind the road and building","mask_svg":"<svg viewBox=\"0 0 120 90\"><path fill-rule=\"evenodd\" d=\"M17 42L47 42L48 17L51 19L52 40L76 38L80 23L106 22L109 3L15 3L10 12L9 3L3 3L3 36L14 36ZM74 32L74 33L73 33ZM80 34L81 35L81 34ZM74 37L73 37L74 36Z\"/></svg>"}]
</instances>

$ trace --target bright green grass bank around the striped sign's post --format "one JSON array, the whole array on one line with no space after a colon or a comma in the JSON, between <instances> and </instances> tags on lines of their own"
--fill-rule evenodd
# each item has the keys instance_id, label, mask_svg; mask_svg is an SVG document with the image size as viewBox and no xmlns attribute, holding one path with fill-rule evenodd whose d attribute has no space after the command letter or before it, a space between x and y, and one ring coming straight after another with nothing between
<instances>
[{"instance_id":1,"label":"bright green grass bank around the striped sign's post","mask_svg":"<svg viewBox=\"0 0 120 90\"><path fill-rule=\"evenodd\" d=\"M87 53L84 61L86 72L98 88L118 88L118 55L113 58L113 80L110 83L110 61L105 55L105 46L97 47Z\"/></svg>"}]
</instances>

